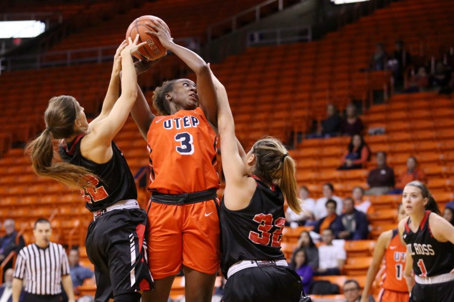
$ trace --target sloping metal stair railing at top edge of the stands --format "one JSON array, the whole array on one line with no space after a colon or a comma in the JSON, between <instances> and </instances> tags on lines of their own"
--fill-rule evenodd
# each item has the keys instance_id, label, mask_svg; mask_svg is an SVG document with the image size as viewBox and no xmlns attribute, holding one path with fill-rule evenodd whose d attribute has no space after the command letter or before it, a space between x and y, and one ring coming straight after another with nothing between
<instances>
[{"instance_id":1,"label":"sloping metal stair railing at top edge of the stands","mask_svg":"<svg viewBox=\"0 0 454 302\"><path fill-rule=\"evenodd\" d=\"M301 2L304 2L306 0L300 0ZM284 2L283 0L267 0L265 2L262 2L252 8L249 8L247 10L244 10L238 14L235 14L227 19L224 19L222 21L219 21L219 22L216 22L210 26L208 26L208 30L207 30L207 38L208 38L208 42L211 41L212 39L212 35L213 35L213 31L216 29L216 28L225 28L225 25L228 25L230 26L230 30L231 32L235 32L238 28L242 27L240 25L240 21L239 19L241 17L246 17L247 15L251 15L251 14L254 14L254 22L258 22L261 20L262 18L262 9L265 8L265 7L269 7L271 5L275 5L277 3L277 10L280 12L282 11L283 9L285 9L285 5L284 5ZM240 25L240 26L239 26Z\"/></svg>"}]
</instances>

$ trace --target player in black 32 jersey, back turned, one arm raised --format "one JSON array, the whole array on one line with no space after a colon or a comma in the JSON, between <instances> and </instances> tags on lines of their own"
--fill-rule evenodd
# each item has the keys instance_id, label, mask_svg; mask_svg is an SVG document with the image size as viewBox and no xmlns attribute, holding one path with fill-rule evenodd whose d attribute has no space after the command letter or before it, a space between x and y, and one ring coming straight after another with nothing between
<instances>
[{"instance_id":1,"label":"player in black 32 jersey, back turned, one arm raised","mask_svg":"<svg viewBox=\"0 0 454 302\"><path fill-rule=\"evenodd\" d=\"M225 190L219 208L224 302L299 301L301 278L288 267L280 241L284 199L301 211L295 163L285 146L268 137L246 155L235 137L225 88L212 76L218 104Z\"/></svg>"}]
</instances>

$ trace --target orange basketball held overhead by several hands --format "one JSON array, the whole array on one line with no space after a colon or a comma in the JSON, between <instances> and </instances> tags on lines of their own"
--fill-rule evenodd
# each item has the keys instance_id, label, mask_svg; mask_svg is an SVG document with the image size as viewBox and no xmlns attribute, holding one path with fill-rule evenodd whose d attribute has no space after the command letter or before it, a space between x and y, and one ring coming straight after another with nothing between
<instances>
[{"instance_id":1,"label":"orange basketball held overhead by several hands","mask_svg":"<svg viewBox=\"0 0 454 302\"><path fill-rule=\"evenodd\" d=\"M155 20L160 20L158 17L154 16L142 16L134 20L126 31L126 40L128 37L131 37L131 40L134 41L137 34L139 34L138 43L147 41L147 44L140 47L137 50L137 53L134 54L139 60L152 61L162 57L167 49L165 49L159 39L155 36L145 33L145 31L153 30L149 29L145 23L155 23ZM163 21L162 21L163 22ZM165 22L163 22L165 24ZM168 29L168 26L165 24ZM170 31L170 30L169 30Z\"/></svg>"}]
</instances>

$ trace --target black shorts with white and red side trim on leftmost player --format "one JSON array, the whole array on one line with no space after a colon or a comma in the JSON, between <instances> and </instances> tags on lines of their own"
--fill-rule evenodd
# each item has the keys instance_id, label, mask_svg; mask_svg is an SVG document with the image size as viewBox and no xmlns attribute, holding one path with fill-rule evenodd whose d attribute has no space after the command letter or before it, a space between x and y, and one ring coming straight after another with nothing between
<instances>
[{"instance_id":1,"label":"black shorts with white and red side trim on leftmost player","mask_svg":"<svg viewBox=\"0 0 454 302\"><path fill-rule=\"evenodd\" d=\"M95 266L96 302L153 288L144 242L146 223L144 210L121 209L103 214L88 226L85 245Z\"/></svg>"}]
</instances>

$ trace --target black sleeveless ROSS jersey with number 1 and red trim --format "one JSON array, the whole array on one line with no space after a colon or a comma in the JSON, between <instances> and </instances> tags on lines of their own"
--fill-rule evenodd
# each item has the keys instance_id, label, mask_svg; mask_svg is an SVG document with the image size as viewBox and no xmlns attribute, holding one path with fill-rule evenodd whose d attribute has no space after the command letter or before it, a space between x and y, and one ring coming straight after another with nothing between
<instances>
[{"instance_id":1,"label":"black sleeveless ROSS jersey with number 1 and red trim","mask_svg":"<svg viewBox=\"0 0 454 302\"><path fill-rule=\"evenodd\" d=\"M408 217L402 236L413 258L413 271L421 277L446 274L454 268L454 245L449 241L439 242L433 238L429 225L430 214L431 211L425 212L416 233L410 230L408 224L411 218Z\"/></svg>"}]
</instances>

